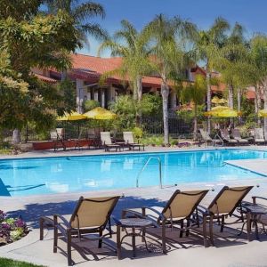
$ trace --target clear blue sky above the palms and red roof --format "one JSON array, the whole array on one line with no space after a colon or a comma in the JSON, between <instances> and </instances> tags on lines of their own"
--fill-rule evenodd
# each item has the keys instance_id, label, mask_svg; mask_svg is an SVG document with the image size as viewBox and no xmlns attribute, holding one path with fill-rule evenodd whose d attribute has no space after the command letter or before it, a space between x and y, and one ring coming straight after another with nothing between
<instances>
[{"instance_id":1,"label":"clear blue sky above the palms and red roof","mask_svg":"<svg viewBox=\"0 0 267 267\"><path fill-rule=\"evenodd\" d=\"M112 35L120 28L121 20L129 20L135 28L142 29L150 20L163 13L167 17L180 16L209 28L216 17L221 16L234 24L238 21L246 28L247 36L256 32L267 33L267 0L93 0L102 4L106 17L99 22ZM99 42L89 36L90 48L77 53L97 55ZM101 53L109 57L109 51Z\"/></svg>"}]
</instances>

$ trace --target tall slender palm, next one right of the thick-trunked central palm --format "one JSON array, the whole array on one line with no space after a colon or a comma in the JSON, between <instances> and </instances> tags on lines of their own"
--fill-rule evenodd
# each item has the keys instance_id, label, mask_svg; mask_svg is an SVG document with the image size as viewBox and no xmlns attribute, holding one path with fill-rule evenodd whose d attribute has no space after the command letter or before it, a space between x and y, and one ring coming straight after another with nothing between
<instances>
[{"instance_id":1,"label":"tall slender palm, next one right of the thick-trunked central palm","mask_svg":"<svg viewBox=\"0 0 267 267\"><path fill-rule=\"evenodd\" d=\"M219 57L219 49L226 40L226 31L230 28L227 20L217 18L207 30L199 31L198 56L205 62L206 67L206 110L211 109L211 77ZM210 133L210 120L208 119L207 131Z\"/></svg>"}]
</instances>

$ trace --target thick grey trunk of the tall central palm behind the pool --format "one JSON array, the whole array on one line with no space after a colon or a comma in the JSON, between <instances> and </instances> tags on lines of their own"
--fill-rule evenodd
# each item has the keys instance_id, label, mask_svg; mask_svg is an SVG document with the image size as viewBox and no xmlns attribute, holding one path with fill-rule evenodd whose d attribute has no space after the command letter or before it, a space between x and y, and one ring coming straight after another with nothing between
<instances>
[{"instance_id":1,"label":"thick grey trunk of the tall central palm behind the pool","mask_svg":"<svg viewBox=\"0 0 267 267\"><path fill-rule=\"evenodd\" d=\"M163 125L164 125L164 143L169 143L169 121L168 121L168 96L169 86L166 83L166 77L162 78L161 83L162 109L163 109Z\"/></svg>"}]
</instances>

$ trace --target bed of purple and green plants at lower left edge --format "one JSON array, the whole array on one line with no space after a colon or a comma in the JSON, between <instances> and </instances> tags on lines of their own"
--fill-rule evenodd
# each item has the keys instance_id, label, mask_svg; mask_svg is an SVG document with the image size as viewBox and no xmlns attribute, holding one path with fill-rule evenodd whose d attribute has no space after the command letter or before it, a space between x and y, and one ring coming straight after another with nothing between
<instances>
[{"instance_id":1,"label":"bed of purple and green plants at lower left edge","mask_svg":"<svg viewBox=\"0 0 267 267\"><path fill-rule=\"evenodd\" d=\"M0 210L0 246L19 240L27 234L27 225L21 218L7 217Z\"/></svg>"}]
</instances>

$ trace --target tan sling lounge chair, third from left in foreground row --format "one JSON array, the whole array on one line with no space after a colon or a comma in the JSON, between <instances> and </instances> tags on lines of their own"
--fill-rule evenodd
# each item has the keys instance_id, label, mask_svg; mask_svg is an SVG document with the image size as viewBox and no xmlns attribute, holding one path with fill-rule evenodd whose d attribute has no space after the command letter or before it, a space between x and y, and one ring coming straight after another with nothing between
<instances>
[{"instance_id":1,"label":"tan sling lounge chair, third from left in foreground row","mask_svg":"<svg viewBox=\"0 0 267 267\"><path fill-rule=\"evenodd\" d=\"M203 236L205 247L207 247L206 224L209 224L210 242L214 246L214 220L221 223L221 232L223 232L225 224L233 224L225 223L225 219L234 213L243 198L247 196L247 193L252 190L252 188L253 186L240 186L231 188L224 186L209 206L198 206L198 212L200 212L203 216ZM234 223L237 223L238 221Z\"/></svg>"}]
</instances>

